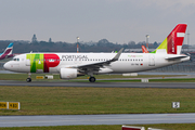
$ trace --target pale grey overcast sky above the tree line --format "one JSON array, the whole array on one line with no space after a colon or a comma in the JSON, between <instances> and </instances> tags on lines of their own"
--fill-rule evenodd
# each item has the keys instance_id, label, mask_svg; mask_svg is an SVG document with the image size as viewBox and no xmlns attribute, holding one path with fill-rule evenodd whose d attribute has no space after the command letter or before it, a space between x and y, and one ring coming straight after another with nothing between
<instances>
[{"instance_id":1,"label":"pale grey overcast sky above the tree line","mask_svg":"<svg viewBox=\"0 0 195 130\"><path fill-rule=\"evenodd\" d=\"M195 0L0 0L0 40L153 43L178 23L195 44Z\"/></svg>"}]
</instances>

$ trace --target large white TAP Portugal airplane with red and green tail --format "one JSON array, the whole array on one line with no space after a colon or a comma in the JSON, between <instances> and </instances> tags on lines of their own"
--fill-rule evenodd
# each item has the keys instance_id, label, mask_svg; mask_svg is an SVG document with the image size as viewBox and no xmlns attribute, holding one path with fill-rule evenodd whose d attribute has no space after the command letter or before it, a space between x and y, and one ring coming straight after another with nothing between
<instances>
[{"instance_id":1,"label":"large white TAP Portugal airplane with red and green tail","mask_svg":"<svg viewBox=\"0 0 195 130\"><path fill-rule=\"evenodd\" d=\"M89 81L95 82L94 75L138 73L155 69L190 60L180 54L186 30L186 24L178 24L161 44L151 53L25 53L6 62L6 70L27 73L27 82L31 73L58 73L61 79L74 79L89 75Z\"/></svg>"}]
</instances>

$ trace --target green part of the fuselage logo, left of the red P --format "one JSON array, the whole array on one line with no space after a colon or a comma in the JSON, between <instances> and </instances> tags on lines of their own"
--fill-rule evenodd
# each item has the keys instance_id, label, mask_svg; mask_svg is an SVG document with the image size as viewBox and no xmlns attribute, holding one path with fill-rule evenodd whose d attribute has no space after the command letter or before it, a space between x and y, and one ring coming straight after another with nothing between
<instances>
[{"instance_id":1,"label":"green part of the fuselage logo, left of the red P","mask_svg":"<svg viewBox=\"0 0 195 130\"><path fill-rule=\"evenodd\" d=\"M26 58L30 60L30 73L43 72L43 54L27 54Z\"/></svg>"}]
</instances>

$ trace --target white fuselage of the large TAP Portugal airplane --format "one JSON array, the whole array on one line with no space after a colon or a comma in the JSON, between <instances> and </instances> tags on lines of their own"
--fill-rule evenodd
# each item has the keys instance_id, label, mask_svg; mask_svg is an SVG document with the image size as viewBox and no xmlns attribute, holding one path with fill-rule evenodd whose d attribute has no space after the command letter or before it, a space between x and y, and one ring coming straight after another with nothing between
<instances>
[{"instance_id":1,"label":"white fuselage of the large TAP Portugal airplane","mask_svg":"<svg viewBox=\"0 0 195 130\"><path fill-rule=\"evenodd\" d=\"M34 53L29 53L34 54ZM21 54L14 57L14 61L10 61L4 64L4 68L17 73L60 73L61 68L77 68L79 66L102 63L112 60L116 53L41 53L41 54L55 54L55 57L29 57L27 54ZM188 61L190 56L184 58L166 60L166 57L173 54L160 54L160 53L121 53L118 61L112 62L109 65L103 66L102 70L95 74L106 74L106 73L134 73L150 70L154 68L159 68L184 61ZM34 64L44 66L44 62L53 64L57 62L54 67L49 67L49 70L43 70L44 68L36 67L31 72L31 66ZM41 65L44 64L44 65ZM105 69L106 68L106 69ZM42 70L41 70L42 69ZM89 68L90 69L90 68Z\"/></svg>"}]
</instances>

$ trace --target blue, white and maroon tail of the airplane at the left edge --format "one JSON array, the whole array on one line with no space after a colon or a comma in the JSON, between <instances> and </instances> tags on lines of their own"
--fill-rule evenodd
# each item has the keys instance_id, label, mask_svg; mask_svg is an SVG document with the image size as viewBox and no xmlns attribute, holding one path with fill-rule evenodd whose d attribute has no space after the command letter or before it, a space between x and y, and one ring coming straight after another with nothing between
<instances>
[{"instance_id":1,"label":"blue, white and maroon tail of the airplane at the left edge","mask_svg":"<svg viewBox=\"0 0 195 130\"><path fill-rule=\"evenodd\" d=\"M13 51L13 43L10 43L8 48L4 50L3 53L0 53L0 60L13 57L14 55L12 54Z\"/></svg>"}]
</instances>

